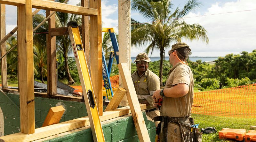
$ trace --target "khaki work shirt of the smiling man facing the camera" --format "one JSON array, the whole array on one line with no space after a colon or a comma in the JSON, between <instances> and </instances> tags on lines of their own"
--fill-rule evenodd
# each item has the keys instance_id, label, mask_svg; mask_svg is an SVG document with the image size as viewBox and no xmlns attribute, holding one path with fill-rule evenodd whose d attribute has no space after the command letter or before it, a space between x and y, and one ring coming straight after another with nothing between
<instances>
[{"instance_id":1,"label":"khaki work shirt of the smiling man facing the camera","mask_svg":"<svg viewBox=\"0 0 256 142\"><path fill-rule=\"evenodd\" d=\"M160 89L160 78L150 70L145 71L141 76L135 71L132 73L132 82L139 102L147 100L150 104L146 110L155 108L153 107L154 100L150 95L153 95L156 90Z\"/></svg>"}]
</instances>

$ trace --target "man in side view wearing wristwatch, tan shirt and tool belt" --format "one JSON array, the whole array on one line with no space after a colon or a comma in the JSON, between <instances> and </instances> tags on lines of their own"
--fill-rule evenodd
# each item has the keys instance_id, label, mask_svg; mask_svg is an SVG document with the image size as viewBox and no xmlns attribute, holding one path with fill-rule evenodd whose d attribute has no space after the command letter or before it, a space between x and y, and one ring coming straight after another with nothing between
<instances>
[{"instance_id":1,"label":"man in side view wearing wristwatch, tan shirt and tool belt","mask_svg":"<svg viewBox=\"0 0 256 142\"><path fill-rule=\"evenodd\" d=\"M192 135L189 130L191 127L188 127L194 123L190 118L194 78L186 64L190 51L191 49L184 42L172 45L168 54L173 67L169 71L164 89L156 90L152 96L155 107L158 106L158 99L163 98L160 108L162 117L159 117L162 123L159 137L163 142L193 142L196 139L196 132L199 132L198 129L193 129L195 134Z\"/></svg>"}]
</instances>

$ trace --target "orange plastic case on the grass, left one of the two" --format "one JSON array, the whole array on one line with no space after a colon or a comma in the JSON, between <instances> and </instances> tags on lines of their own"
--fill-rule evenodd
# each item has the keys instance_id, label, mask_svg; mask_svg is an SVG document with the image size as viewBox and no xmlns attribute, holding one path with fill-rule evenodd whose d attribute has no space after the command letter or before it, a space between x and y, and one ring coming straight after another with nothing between
<instances>
[{"instance_id":1,"label":"orange plastic case on the grass, left one of the two","mask_svg":"<svg viewBox=\"0 0 256 142\"><path fill-rule=\"evenodd\" d=\"M245 129L229 129L223 128L219 131L220 139L235 139L235 140L244 140L246 130Z\"/></svg>"}]
</instances>

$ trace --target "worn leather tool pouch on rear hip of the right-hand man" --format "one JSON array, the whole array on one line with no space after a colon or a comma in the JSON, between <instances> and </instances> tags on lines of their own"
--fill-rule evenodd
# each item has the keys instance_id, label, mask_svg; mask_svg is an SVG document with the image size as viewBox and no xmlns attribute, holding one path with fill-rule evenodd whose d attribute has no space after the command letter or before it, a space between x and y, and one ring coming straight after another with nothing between
<instances>
[{"instance_id":1,"label":"worn leather tool pouch on rear hip of the right-hand man","mask_svg":"<svg viewBox=\"0 0 256 142\"><path fill-rule=\"evenodd\" d=\"M180 124L180 134L182 142L202 142L203 133L198 128Z\"/></svg>"}]
</instances>

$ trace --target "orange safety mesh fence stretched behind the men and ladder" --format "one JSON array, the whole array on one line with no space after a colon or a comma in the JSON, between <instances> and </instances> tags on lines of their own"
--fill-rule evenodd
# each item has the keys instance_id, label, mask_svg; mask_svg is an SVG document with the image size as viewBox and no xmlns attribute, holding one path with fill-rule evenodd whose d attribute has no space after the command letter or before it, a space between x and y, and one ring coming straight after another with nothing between
<instances>
[{"instance_id":1,"label":"orange safety mesh fence stretched behind the men and ladder","mask_svg":"<svg viewBox=\"0 0 256 142\"><path fill-rule=\"evenodd\" d=\"M110 77L110 82L119 87L119 76ZM194 93L192 113L256 118L256 84Z\"/></svg>"}]
</instances>

